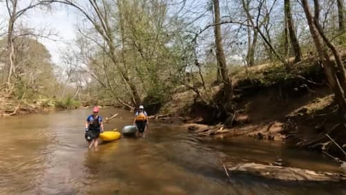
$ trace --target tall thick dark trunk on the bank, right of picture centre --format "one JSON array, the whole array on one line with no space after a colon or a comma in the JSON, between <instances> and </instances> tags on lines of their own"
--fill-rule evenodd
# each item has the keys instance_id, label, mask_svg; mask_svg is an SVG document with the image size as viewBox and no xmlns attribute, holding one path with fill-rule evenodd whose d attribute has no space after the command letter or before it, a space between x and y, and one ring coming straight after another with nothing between
<instances>
[{"instance_id":1,"label":"tall thick dark trunk on the bank, right of picture centre","mask_svg":"<svg viewBox=\"0 0 346 195\"><path fill-rule=\"evenodd\" d=\"M222 46L219 0L213 0L213 3L214 3L214 15L215 15L214 24L218 24L218 25L215 25L215 46L217 48L217 52L216 52L217 61L219 62L222 82L224 83L224 87L225 87L226 99L232 100L232 95L233 95L232 80L230 79L230 76L228 75L226 57L224 54L224 48Z\"/></svg>"}]
</instances>

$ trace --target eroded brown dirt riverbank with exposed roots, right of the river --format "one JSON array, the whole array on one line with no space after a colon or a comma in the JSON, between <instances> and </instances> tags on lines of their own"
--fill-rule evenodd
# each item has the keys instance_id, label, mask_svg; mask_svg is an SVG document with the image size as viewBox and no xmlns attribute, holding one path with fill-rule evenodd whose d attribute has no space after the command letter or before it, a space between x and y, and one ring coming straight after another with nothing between
<instances>
[{"instance_id":1,"label":"eroded brown dirt riverbank with exposed roots, right of the river","mask_svg":"<svg viewBox=\"0 0 346 195\"><path fill-rule=\"evenodd\" d=\"M215 119L217 114L193 91L181 89L163 106L161 114L181 118L198 136L251 136L340 154L325 134L344 145L345 126L340 124L334 97L316 57L306 57L289 71L282 65L264 64L245 68L232 77L235 114L228 122ZM209 87L209 96L217 98L219 86Z\"/></svg>"}]
</instances>

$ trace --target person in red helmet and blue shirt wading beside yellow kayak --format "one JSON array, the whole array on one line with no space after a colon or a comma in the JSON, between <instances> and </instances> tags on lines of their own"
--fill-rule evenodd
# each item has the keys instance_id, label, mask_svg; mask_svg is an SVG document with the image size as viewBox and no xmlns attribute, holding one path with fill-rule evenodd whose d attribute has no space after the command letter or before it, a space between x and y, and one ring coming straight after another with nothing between
<instances>
[{"instance_id":1,"label":"person in red helmet and blue shirt wading beside yellow kayak","mask_svg":"<svg viewBox=\"0 0 346 195\"><path fill-rule=\"evenodd\" d=\"M93 114L86 118L84 137L89 142L89 149L98 147L98 137L104 130L102 117L98 115L99 111L100 108L98 106L93 107Z\"/></svg>"}]
</instances>

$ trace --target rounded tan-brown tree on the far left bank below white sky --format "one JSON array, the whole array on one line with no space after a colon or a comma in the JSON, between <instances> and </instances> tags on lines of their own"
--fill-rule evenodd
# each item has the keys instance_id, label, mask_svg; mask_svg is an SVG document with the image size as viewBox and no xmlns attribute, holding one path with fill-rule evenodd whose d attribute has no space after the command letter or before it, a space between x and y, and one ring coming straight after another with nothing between
<instances>
[{"instance_id":1,"label":"rounded tan-brown tree on the far left bank below white sky","mask_svg":"<svg viewBox=\"0 0 346 195\"><path fill-rule=\"evenodd\" d=\"M0 40L0 48L6 46L6 39ZM13 42L16 53L16 66L12 70L13 94L21 97L26 92L26 98L39 95L55 94L57 80L54 75L55 65L51 55L43 44L30 37L17 37ZM8 53L0 57L0 64L8 60ZM12 95L13 95L12 94Z\"/></svg>"}]
</instances>

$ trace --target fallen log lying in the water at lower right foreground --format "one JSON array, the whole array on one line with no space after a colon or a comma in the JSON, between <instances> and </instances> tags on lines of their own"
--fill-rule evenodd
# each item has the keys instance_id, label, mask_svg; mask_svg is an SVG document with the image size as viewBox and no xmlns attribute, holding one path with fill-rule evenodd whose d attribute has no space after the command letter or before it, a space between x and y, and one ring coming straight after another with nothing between
<instances>
[{"instance_id":1,"label":"fallen log lying in the water at lower right foreground","mask_svg":"<svg viewBox=\"0 0 346 195\"><path fill-rule=\"evenodd\" d=\"M257 163L242 163L228 165L230 176L235 173L251 174L269 179L284 181L345 181L346 177L339 173L316 172L295 167L280 167L275 165L262 165Z\"/></svg>"}]
</instances>

